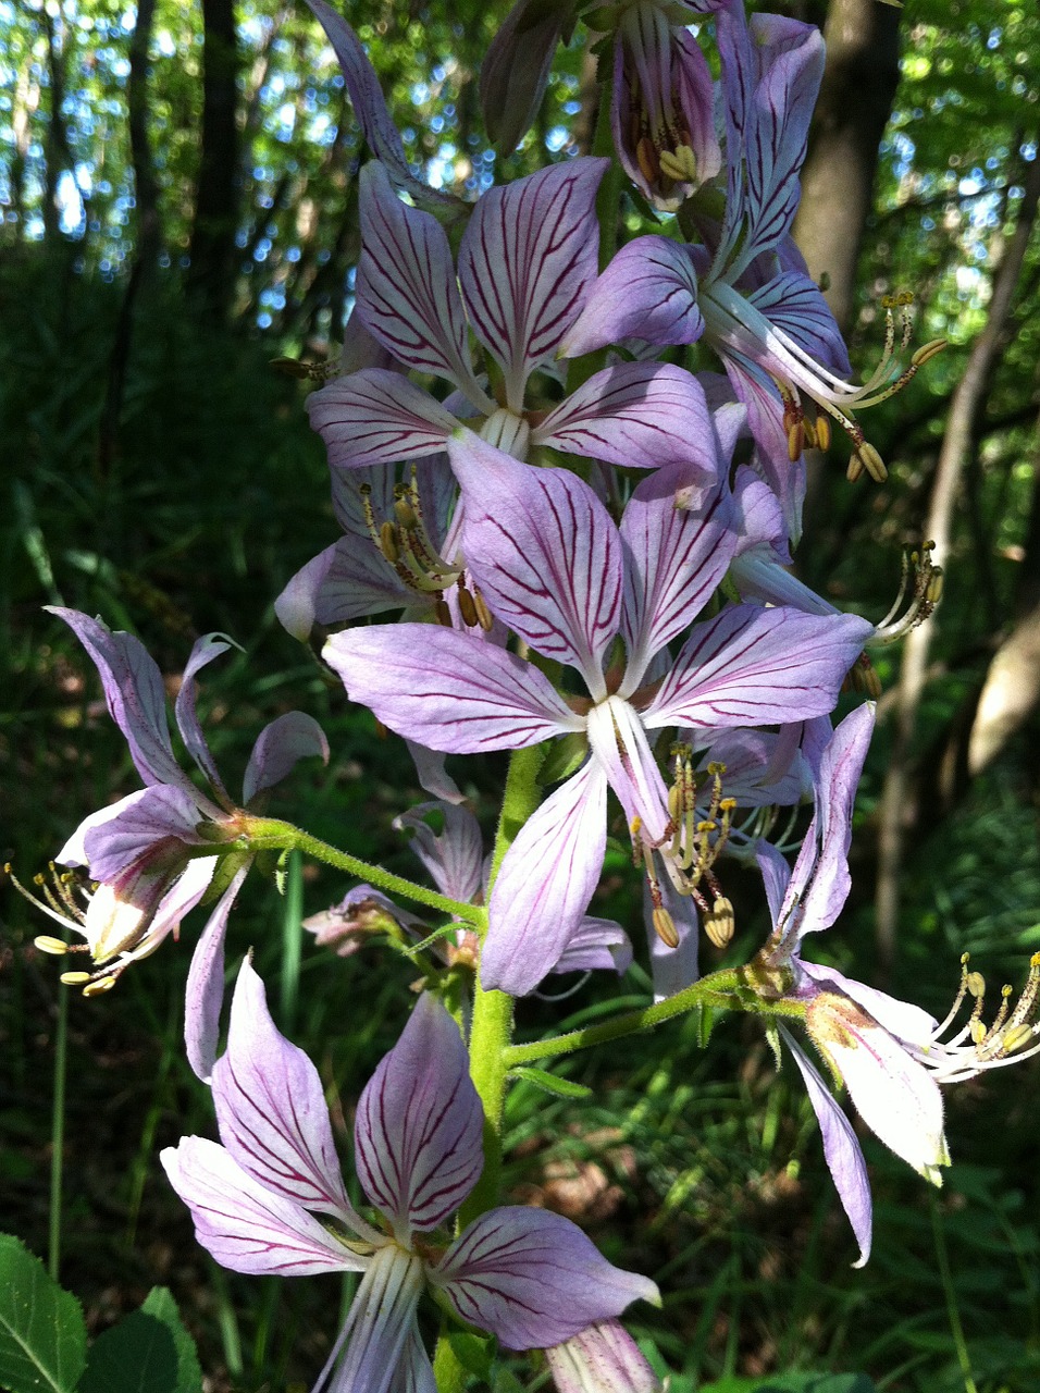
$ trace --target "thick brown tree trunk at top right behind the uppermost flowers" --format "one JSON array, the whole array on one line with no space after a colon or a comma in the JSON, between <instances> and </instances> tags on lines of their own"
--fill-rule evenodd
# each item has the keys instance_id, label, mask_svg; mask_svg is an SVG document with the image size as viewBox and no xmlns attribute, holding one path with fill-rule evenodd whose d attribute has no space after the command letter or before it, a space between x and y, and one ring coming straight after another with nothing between
<instances>
[{"instance_id":1,"label":"thick brown tree trunk at top right behind the uppermost flowers","mask_svg":"<svg viewBox=\"0 0 1040 1393\"><path fill-rule=\"evenodd\" d=\"M827 67L794 233L809 274L830 276L827 302L842 332L852 319L877 149L899 81L898 25L899 11L877 0L833 0L823 31Z\"/></svg>"}]
</instances>

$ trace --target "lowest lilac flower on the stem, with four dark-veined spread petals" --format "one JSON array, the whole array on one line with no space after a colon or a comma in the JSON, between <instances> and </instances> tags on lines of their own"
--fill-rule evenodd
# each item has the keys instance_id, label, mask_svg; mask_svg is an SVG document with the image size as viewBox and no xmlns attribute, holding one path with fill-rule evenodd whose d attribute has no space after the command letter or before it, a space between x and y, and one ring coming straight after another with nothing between
<instances>
[{"instance_id":1,"label":"lowest lilac flower on the stem, with four dark-veined spread petals","mask_svg":"<svg viewBox=\"0 0 1040 1393\"><path fill-rule=\"evenodd\" d=\"M362 1275L315 1393L432 1390L416 1323L427 1287L510 1350L561 1344L657 1300L561 1215L491 1209L448 1241L483 1167L483 1110L458 1027L429 995L358 1103L355 1163L377 1226L347 1198L317 1070L276 1029L249 963L213 1102L223 1145L185 1137L161 1155L199 1243L235 1272Z\"/></svg>"}]
</instances>

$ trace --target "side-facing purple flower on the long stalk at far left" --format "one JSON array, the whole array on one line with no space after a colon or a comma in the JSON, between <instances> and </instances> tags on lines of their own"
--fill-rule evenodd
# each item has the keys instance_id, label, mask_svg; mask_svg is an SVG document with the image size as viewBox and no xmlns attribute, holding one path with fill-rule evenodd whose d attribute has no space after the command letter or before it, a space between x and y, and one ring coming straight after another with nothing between
<instances>
[{"instance_id":1,"label":"side-facing purple flower on the long stalk at far left","mask_svg":"<svg viewBox=\"0 0 1040 1393\"><path fill-rule=\"evenodd\" d=\"M177 933L181 919L212 885L223 889L192 958L188 976L188 1055L200 1077L209 1073L223 995L223 940L234 897L251 857L230 850L248 832L249 816L228 795L195 713L195 676L226 653L230 639L198 639L181 678L177 727L207 790L199 788L174 758L166 716L163 677L132 634L113 634L99 620L70 609L52 609L81 641L102 678L113 720L146 787L110 808L90 814L57 855L60 865L85 866L96 887L85 912L64 897L70 914L47 908L52 918L82 933L100 971L85 990L116 985L135 958L155 953ZM301 712L278 716L260 733L242 787L242 805L255 804L305 755L329 758L320 727ZM223 853L217 848L223 846ZM212 854L210 854L210 848ZM220 880L214 880L220 872ZM46 908L46 907L45 907ZM58 944L60 946L60 944ZM85 974L71 974L81 982Z\"/></svg>"}]
</instances>

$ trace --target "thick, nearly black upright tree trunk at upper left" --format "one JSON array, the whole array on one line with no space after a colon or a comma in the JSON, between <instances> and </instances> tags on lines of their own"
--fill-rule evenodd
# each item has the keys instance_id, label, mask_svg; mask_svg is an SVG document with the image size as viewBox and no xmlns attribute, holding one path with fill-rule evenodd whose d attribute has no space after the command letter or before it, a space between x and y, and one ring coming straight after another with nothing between
<instances>
[{"instance_id":1,"label":"thick, nearly black upright tree trunk at upper left","mask_svg":"<svg viewBox=\"0 0 1040 1393\"><path fill-rule=\"evenodd\" d=\"M205 318L227 319L238 231L238 49L234 0L202 0L202 155L195 188L188 290Z\"/></svg>"}]
</instances>

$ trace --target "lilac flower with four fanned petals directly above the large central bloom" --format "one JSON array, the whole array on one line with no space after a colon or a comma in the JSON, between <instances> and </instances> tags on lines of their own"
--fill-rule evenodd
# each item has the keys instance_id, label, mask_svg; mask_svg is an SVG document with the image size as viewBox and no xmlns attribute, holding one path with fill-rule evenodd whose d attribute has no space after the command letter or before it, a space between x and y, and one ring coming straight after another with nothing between
<instances>
[{"instance_id":1,"label":"lilac flower with four fanned petals directly above the large central bloom","mask_svg":"<svg viewBox=\"0 0 1040 1393\"><path fill-rule=\"evenodd\" d=\"M462 235L458 279L444 228L402 203L379 163L362 170L356 313L400 362L455 390L441 403L400 373L365 369L312 393L334 468L437 454L465 419L519 460L546 447L643 469L684 461L714 479L704 394L681 368L615 364L551 410L526 400L532 375L556 371L596 277L606 163L568 160L489 189ZM473 371L468 326L496 364L500 397Z\"/></svg>"}]
</instances>

